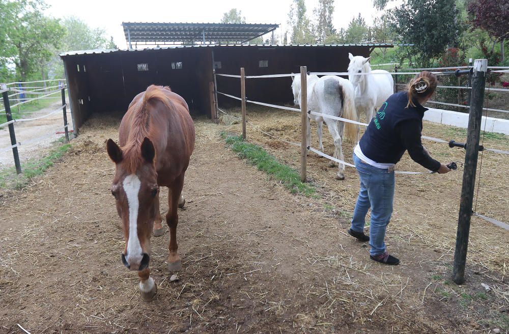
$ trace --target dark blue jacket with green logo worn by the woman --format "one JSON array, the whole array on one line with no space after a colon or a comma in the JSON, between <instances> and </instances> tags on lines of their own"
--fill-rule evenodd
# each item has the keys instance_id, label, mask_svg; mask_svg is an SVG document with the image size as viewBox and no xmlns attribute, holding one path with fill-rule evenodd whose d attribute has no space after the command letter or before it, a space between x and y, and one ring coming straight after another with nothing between
<instances>
[{"instance_id":1,"label":"dark blue jacket with green logo worn by the woman","mask_svg":"<svg viewBox=\"0 0 509 334\"><path fill-rule=\"evenodd\" d=\"M422 118L428 110L414 101L415 107L407 108L407 92L392 94L382 104L359 145L362 153L379 163L397 163L408 150L415 162L437 171L440 162L426 153L420 141Z\"/></svg>"}]
</instances>

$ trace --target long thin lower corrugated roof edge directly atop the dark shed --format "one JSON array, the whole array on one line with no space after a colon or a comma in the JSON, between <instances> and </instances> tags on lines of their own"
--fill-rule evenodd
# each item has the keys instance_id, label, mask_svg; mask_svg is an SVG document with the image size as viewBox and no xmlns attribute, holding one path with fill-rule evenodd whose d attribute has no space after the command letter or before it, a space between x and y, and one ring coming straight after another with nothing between
<instances>
[{"instance_id":1,"label":"long thin lower corrugated roof edge directly atop the dark shed","mask_svg":"<svg viewBox=\"0 0 509 334\"><path fill-rule=\"evenodd\" d=\"M367 47L393 47L393 44L286 44L286 45L272 45L272 44L221 44L221 45L172 45L164 47L146 47L143 49L92 49L92 50L78 50L59 53L60 57L67 57L72 55L82 54L100 54L112 52L137 52L149 50L167 50L178 48L197 48L197 47L258 47L258 48L289 48L289 47L349 47L349 46L367 46Z\"/></svg>"}]
</instances>

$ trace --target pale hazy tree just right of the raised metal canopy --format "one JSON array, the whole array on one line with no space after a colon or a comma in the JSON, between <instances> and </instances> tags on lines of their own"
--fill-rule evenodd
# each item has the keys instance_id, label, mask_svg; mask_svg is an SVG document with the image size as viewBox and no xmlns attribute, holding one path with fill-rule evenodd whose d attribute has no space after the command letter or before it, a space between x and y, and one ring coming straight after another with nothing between
<instances>
[{"instance_id":1,"label":"pale hazy tree just right of the raised metal canopy","mask_svg":"<svg viewBox=\"0 0 509 334\"><path fill-rule=\"evenodd\" d=\"M306 16L304 0L293 0L288 13L288 25L290 26L290 39L293 44L313 44L315 36L310 29L309 18Z\"/></svg>"}]
</instances>

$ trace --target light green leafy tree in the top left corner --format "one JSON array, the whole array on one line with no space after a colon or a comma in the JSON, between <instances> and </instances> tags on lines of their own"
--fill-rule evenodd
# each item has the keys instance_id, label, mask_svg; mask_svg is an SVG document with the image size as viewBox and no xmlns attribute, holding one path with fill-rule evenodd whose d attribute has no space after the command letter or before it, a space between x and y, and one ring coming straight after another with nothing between
<instances>
[{"instance_id":1,"label":"light green leafy tree in the top left corner","mask_svg":"<svg viewBox=\"0 0 509 334\"><path fill-rule=\"evenodd\" d=\"M42 14L42 2L0 0L2 44L0 56L16 66L21 80L39 72L58 49L65 34L58 19ZM5 11L4 11L5 10Z\"/></svg>"}]
</instances>

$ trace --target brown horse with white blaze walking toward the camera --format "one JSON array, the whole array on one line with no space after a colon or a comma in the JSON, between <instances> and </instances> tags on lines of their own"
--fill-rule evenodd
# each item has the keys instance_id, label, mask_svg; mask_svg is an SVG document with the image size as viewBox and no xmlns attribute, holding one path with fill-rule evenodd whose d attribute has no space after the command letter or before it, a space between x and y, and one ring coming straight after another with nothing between
<instances>
[{"instance_id":1,"label":"brown horse with white blaze walking toward the camera","mask_svg":"<svg viewBox=\"0 0 509 334\"><path fill-rule=\"evenodd\" d=\"M151 300L157 292L149 277L149 261L152 232L156 236L164 234L159 212L160 186L169 189L168 269L182 268L177 207L185 202L181 192L194 139L194 124L184 99L168 87L152 85L129 104L120 124L120 147L111 139L106 144L109 157L115 162L111 193L126 240L122 262L128 269L138 271L139 289L145 300Z\"/></svg>"}]
</instances>

